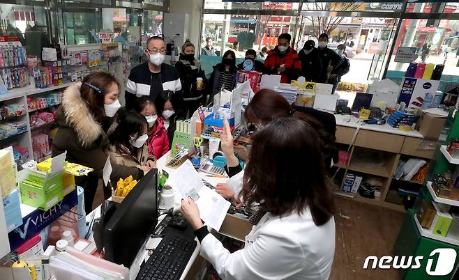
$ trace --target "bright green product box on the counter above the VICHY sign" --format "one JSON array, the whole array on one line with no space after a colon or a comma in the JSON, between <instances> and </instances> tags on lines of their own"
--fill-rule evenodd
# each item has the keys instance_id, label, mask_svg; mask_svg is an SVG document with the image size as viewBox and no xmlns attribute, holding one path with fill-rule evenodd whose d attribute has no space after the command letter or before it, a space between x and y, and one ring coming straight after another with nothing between
<instances>
[{"instance_id":1,"label":"bright green product box on the counter above the VICHY sign","mask_svg":"<svg viewBox=\"0 0 459 280\"><path fill-rule=\"evenodd\" d=\"M43 182L40 185L38 182ZM62 172L54 176L29 170L19 183L22 203L47 211L63 199Z\"/></svg>"}]
</instances>

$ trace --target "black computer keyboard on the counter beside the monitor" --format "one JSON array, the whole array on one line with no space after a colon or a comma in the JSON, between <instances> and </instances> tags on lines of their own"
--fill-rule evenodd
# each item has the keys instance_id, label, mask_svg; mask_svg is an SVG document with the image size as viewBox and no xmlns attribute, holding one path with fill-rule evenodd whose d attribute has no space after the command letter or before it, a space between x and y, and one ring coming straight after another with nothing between
<instances>
[{"instance_id":1,"label":"black computer keyboard on the counter beside the monitor","mask_svg":"<svg viewBox=\"0 0 459 280\"><path fill-rule=\"evenodd\" d=\"M180 279L197 246L195 240L166 234L137 274L138 280Z\"/></svg>"}]
</instances>

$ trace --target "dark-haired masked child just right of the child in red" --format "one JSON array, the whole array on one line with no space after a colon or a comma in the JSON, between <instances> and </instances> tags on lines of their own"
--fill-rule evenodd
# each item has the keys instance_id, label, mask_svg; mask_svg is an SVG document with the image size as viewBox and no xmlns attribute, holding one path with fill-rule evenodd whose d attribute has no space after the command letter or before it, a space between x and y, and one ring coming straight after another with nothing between
<instances>
[{"instance_id":1,"label":"dark-haired masked child just right of the child in red","mask_svg":"<svg viewBox=\"0 0 459 280\"><path fill-rule=\"evenodd\" d=\"M172 141L174 140L175 122L177 114L176 108L176 95L172 91L163 91L158 95L155 100L158 114L163 118L164 127L167 130L167 139L169 140L169 148L172 148Z\"/></svg>"}]
</instances>

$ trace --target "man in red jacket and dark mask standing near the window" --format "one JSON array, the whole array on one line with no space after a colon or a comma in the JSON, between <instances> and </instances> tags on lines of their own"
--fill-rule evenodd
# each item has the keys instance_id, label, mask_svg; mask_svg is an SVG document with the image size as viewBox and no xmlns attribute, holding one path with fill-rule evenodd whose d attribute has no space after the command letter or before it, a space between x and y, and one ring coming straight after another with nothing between
<instances>
[{"instance_id":1,"label":"man in red jacket and dark mask standing near the window","mask_svg":"<svg viewBox=\"0 0 459 280\"><path fill-rule=\"evenodd\" d=\"M280 82L289 84L301 73L301 61L298 54L290 47L292 36L289 33L280 34L278 45L268 52L264 61L266 74L281 75Z\"/></svg>"}]
</instances>

